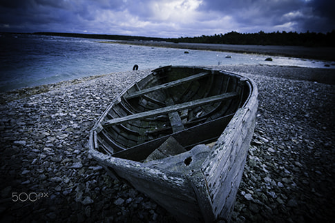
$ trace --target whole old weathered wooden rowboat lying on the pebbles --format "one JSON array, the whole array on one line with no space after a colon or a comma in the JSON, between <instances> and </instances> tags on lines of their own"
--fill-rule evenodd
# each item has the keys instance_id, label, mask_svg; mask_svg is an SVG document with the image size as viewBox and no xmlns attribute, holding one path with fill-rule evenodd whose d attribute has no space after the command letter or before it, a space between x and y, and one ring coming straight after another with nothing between
<instances>
[{"instance_id":1,"label":"whole old weathered wooden rowboat lying on the pebbles","mask_svg":"<svg viewBox=\"0 0 335 223\"><path fill-rule=\"evenodd\" d=\"M90 132L90 154L180 222L229 221L257 95L230 72L157 68L113 100Z\"/></svg>"}]
</instances>

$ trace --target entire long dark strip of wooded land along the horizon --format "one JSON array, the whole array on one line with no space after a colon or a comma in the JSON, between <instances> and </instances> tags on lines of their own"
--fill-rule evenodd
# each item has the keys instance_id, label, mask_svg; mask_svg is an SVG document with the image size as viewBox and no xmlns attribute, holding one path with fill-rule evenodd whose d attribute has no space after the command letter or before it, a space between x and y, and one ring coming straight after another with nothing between
<instances>
[{"instance_id":1,"label":"entire long dark strip of wooded land along the horizon","mask_svg":"<svg viewBox=\"0 0 335 223\"><path fill-rule=\"evenodd\" d=\"M138 37L126 35L95 35L60 32L35 32L35 35L55 35L62 37L82 37L92 39L113 39L113 40L135 40L135 41L168 41L174 43L218 43L218 44L239 44L239 45L274 45L274 46L309 46L309 47L335 47L335 30L332 32L258 32L238 33L228 32L224 35L202 35L201 37L179 37L179 38L156 38Z\"/></svg>"}]
</instances>

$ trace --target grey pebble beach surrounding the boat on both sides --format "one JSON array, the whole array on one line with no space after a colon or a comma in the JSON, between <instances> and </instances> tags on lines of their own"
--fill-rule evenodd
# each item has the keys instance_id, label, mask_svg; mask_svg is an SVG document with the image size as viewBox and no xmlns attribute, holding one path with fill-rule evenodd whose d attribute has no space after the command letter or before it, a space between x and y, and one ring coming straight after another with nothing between
<instances>
[{"instance_id":1,"label":"grey pebble beach surrounding the boat on both sides","mask_svg":"<svg viewBox=\"0 0 335 223\"><path fill-rule=\"evenodd\" d=\"M258 86L232 222L334 222L333 69L216 66ZM88 155L88 132L149 70L0 95L1 222L175 222Z\"/></svg>"}]
</instances>

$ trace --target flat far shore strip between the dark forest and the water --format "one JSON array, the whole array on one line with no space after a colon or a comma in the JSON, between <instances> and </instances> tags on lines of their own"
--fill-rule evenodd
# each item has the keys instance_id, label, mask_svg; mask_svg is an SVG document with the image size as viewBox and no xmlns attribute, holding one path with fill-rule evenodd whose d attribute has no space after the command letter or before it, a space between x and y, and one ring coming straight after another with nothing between
<instances>
[{"instance_id":1,"label":"flat far shore strip between the dark forest and the water","mask_svg":"<svg viewBox=\"0 0 335 223\"><path fill-rule=\"evenodd\" d=\"M303 59L318 59L335 61L335 48L305 47L305 46L262 46L262 45L232 45L215 43L171 43L164 41L99 41L101 43L119 43L162 48L181 48L189 50L210 50L237 53L255 53L281 57L297 57Z\"/></svg>"}]
</instances>

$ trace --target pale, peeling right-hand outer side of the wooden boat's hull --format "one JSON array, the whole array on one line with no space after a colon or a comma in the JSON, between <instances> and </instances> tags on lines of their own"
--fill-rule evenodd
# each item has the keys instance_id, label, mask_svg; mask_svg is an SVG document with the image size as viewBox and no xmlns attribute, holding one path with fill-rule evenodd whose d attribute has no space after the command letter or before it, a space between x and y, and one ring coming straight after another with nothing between
<instances>
[{"instance_id":1,"label":"pale, peeling right-hand outer side of the wooden boat's hull","mask_svg":"<svg viewBox=\"0 0 335 223\"><path fill-rule=\"evenodd\" d=\"M218 139L213 148L213 151L217 152L211 153L202 164L202 171L209 184L213 209L216 210L216 218L227 221L233 211L233 203L255 127L257 88L253 88L247 102L244 108L238 110Z\"/></svg>"}]
</instances>

